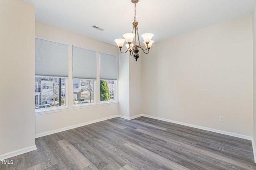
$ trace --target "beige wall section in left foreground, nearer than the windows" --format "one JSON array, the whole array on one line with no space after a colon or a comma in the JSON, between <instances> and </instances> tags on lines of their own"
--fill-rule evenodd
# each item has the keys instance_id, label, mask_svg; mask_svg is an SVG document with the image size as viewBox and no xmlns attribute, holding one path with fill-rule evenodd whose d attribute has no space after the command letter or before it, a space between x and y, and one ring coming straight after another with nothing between
<instances>
[{"instance_id":1,"label":"beige wall section in left foreground, nearer than the windows","mask_svg":"<svg viewBox=\"0 0 256 170\"><path fill-rule=\"evenodd\" d=\"M1 160L8 152L35 147L34 6L0 0L0 21Z\"/></svg>"}]
</instances>

